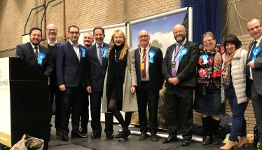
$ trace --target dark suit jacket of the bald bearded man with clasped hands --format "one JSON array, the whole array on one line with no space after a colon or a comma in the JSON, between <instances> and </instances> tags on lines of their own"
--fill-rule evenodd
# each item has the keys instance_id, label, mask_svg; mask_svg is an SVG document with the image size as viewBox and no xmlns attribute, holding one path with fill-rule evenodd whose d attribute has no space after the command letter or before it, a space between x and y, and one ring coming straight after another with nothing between
<instances>
[{"instance_id":1,"label":"dark suit jacket of the bald bearded man with clasped hands","mask_svg":"<svg viewBox=\"0 0 262 150\"><path fill-rule=\"evenodd\" d=\"M168 79L172 78L171 74L171 62L172 53L177 47L174 43L172 46L167 48L165 57L163 59L162 72L165 77L166 83L165 87L167 89L172 88L172 83L169 83ZM197 43L186 40L184 48L188 50L188 53L183 56L182 60L179 62L177 69L177 78L179 79L179 84L176 86L182 87L196 87L196 66L198 64L198 58L200 51Z\"/></svg>"}]
</instances>

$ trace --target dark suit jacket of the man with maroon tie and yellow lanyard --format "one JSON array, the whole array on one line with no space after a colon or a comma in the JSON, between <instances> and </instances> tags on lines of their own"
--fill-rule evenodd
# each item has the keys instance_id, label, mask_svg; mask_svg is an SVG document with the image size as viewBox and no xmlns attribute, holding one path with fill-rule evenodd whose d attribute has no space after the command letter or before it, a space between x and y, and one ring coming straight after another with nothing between
<instances>
[{"instance_id":1,"label":"dark suit jacket of the man with maroon tie and yellow lanyard","mask_svg":"<svg viewBox=\"0 0 262 150\"><path fill-rule=\"evenodd\" d=\"M163 88L164 76L162 74L163 53L160 48L151 46L150 50L155 52L153 63L149 62L149 81L153 90L161 90ZM141 88L141 69L140 69L140 53L139 48L135 50L135 68L137 72L137 90Z\"/></svg>"}]
</instances>

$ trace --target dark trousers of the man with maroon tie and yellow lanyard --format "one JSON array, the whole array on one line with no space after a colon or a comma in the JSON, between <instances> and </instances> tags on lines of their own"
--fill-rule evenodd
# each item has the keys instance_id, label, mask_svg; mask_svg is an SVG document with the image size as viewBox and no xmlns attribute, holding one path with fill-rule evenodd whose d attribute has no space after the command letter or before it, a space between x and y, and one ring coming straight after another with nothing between
<instances>
[{"instance_id":1,"label":"dark trousers of the man with maroon tie and yellow lanyard","mask_svg":"<svg viewBox=\"0 0 262 150\"><path fill-rule=\"evenodd\" d=\"M156 133L158 131L158 99L159 90L152 90L149 81L142 81L137 90L137 104L140 132ZM146 117L146 107L149 109L149 123Z\"/></svg>"}]
</instances>

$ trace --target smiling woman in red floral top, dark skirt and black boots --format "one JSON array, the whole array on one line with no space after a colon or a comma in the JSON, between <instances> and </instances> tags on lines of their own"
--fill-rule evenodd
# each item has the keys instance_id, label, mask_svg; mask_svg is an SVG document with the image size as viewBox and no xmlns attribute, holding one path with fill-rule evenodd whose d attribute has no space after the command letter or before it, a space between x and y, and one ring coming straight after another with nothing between
<instances>
[{"instance_id":1,"label":"smiling woman in red floral top, dark skirt and black boots","mask_svg":"<svg viewBox=\"0 0 262 150\"><path fill-rule=\"evenodd\" d=\"M212 32L203 34L204 48L200 46L198 60L198 88L195 90L194 109L202 114L205 131L202 144L219 144L217 139L220 114L225 113L221 103L222 54L224 48L216 44ZM214 137L213 137L214 135Z\"/></svg>"}]
</instances>

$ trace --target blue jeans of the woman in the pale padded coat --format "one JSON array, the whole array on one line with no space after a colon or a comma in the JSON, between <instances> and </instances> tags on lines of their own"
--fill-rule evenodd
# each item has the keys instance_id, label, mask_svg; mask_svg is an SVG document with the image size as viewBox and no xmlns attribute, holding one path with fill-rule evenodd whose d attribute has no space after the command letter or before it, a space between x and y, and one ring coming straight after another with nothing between
<instances>
[{"instance_id":1,"label":"blue jeans of the woman in the pale padded coat","mask_svg":"<svg viewBox=\"0 0 262 150\"><path fill-rule=\"evenodd\" d=\"M247 103L237 104L237 97L228 97L228 102L233 114L232 128L229 136L230 141L237 141L237 136L243 137L247 135L247 123L244 119L244 111L247 109Z\"/></svg>"}]
</instances>

